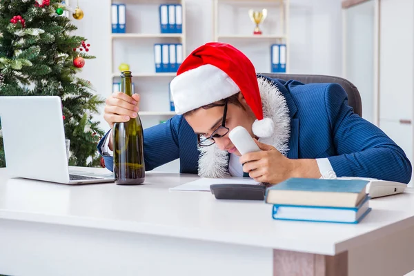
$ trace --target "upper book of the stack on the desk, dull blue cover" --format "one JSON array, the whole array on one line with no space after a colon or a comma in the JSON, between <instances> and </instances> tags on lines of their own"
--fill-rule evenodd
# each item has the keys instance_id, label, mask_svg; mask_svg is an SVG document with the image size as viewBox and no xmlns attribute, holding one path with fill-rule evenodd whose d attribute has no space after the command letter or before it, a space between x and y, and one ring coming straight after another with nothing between
<instances>
[{"instance_id":1,"label":"upper book of the stack on the desk, dull blue cover","mask_svg":"<svg viewBox=\"0 0 414 276\"><path fill-rule=\"evenodd\" d=\"M266 189L268 204L354 208L366 196L366 184L360 179L290 178Z\"/></svg>"}]
</instances>

